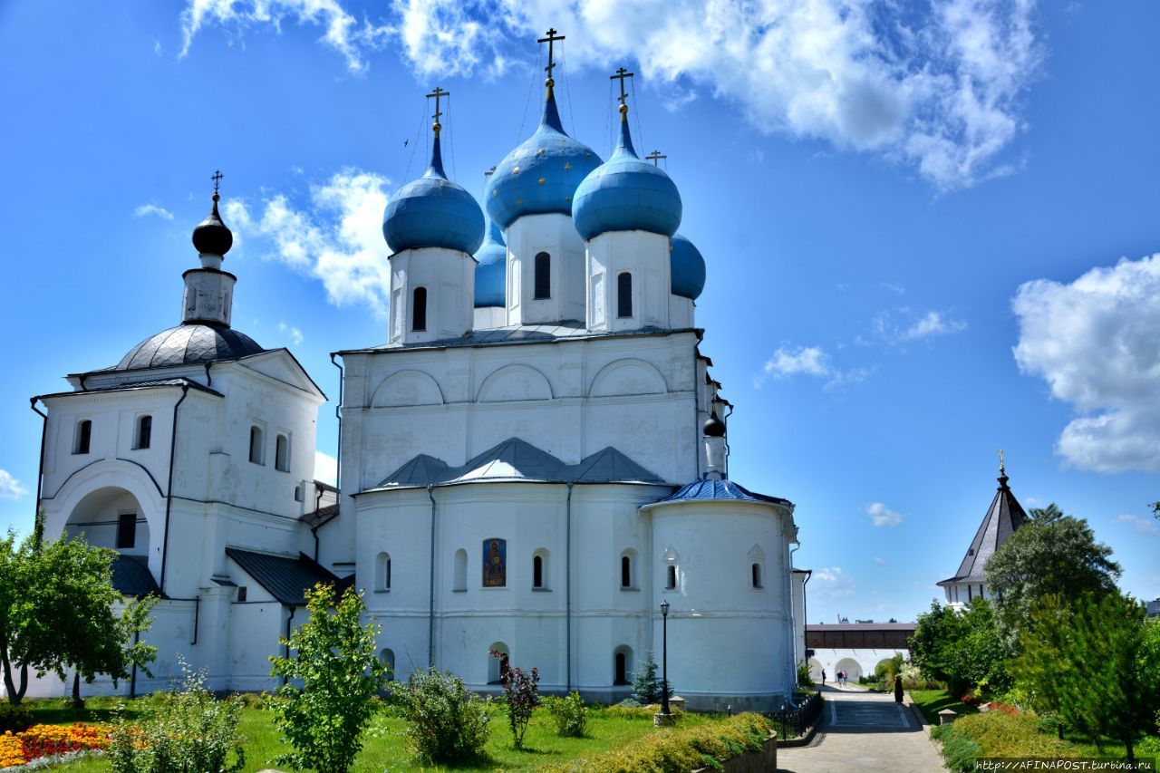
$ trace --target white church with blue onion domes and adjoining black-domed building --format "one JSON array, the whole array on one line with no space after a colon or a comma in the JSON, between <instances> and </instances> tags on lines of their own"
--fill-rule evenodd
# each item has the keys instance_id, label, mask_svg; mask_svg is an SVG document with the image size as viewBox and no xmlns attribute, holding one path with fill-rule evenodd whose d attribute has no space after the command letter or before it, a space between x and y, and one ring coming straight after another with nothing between
<instances>
[{"instance_id":1,"label":"white church with blue onion domes and adjoining black-domed building","mask_svg":"<svg viewBox=\"0 0 1160 773\"><path fill-rule=\"evenodd\" d=\"M177 655L215 688L273 687L303 590L334 581L364 590L400 679L435 665L494 691L510 663L545 692L621 700L667 622L690 708L780 706L807 575L793 505L728 477L732 406L699 349L705 263L676 233L676 186L637 157L623 96L602 162L564 131L549 77L485 214L443 172L438 116L430 168L384 216L386 340L335 353L340 490L313 481L326 396L231 327L215 193L181 324L34 398L46 533L115 548L118 587L162 599L139 691Z\"/></svg>"}]
</instances>

